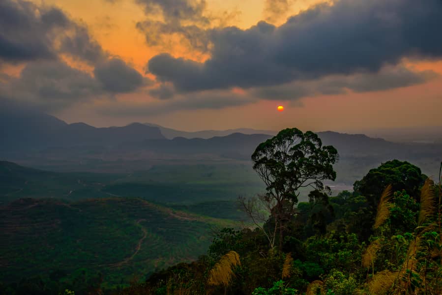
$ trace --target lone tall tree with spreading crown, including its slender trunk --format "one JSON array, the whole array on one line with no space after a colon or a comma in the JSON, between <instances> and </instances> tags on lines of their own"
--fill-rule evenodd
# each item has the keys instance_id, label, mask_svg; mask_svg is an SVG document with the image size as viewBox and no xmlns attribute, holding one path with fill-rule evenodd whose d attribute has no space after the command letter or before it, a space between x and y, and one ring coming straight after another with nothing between
<instances>
[{"instance_id":1,"label":"lone tall tree with spreading crown, including its slender trunk","mask_svg":"<svg viewBox=\"0 0 442 295\"><path fill-rule=\"evenodd\" d=\"M297 128L281 130L256 148L252 154L253 169L264 181L266 193L259 199L246 201L240 198L240 201L257 225L256 217L262 216L257 213L260 207L261 210L267 209L272 216L274 224L271 229L259 225L270 247L274 246L279 230L279 249L282 249L284 224L295 214L298 190L311 187L323 191L323 181L336 178L333 164L337 159L336 148L323 146L317 134L303 133Z\"/></svg>"}]
</instances>

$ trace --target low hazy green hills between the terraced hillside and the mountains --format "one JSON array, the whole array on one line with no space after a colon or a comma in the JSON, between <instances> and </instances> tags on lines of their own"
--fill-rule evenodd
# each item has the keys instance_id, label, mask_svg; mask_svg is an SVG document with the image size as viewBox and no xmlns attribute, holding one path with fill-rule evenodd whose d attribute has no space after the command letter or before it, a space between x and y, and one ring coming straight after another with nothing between
<instances>
[{"instance_id":1,"label":"low hazy green hills between the terraced hillside and the mountains","mask_svg":"<svg viewBox=\"0 0 442 295\"><path fill-rule=\"evenodd\" d=\"M253 195L262 189L251 167L236 164L167 165L131 174L98 174L48 172L0 161L0 205L20 198L74 202L121 196L168 206L192 205L189 211L218 216L200 211L199 204L208 202L230 210L232 204L217 202L236 200L239 194Z\"/></svg>"}]
</instances>

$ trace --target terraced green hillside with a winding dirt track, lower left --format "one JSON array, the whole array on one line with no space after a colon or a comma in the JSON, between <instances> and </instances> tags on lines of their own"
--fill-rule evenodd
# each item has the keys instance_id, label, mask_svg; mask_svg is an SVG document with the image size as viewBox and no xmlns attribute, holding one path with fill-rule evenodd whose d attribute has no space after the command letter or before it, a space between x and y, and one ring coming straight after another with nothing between
<instances>
[{"instance_id":1,"label":"terraced green hillside with a winding dirt track, lower left","mask_svg":"<svg viewBox=\"0 0 442 295\"><path fill-rule=\"evenodd\" d=\"M20 199L0 207L0 280L87 268L124 284L206 253L210 228L229 225L140 199Z\"/></svg>"}]
</instances>

